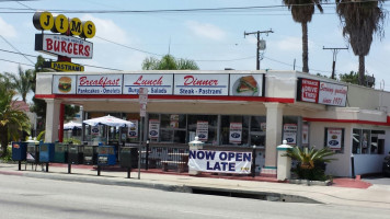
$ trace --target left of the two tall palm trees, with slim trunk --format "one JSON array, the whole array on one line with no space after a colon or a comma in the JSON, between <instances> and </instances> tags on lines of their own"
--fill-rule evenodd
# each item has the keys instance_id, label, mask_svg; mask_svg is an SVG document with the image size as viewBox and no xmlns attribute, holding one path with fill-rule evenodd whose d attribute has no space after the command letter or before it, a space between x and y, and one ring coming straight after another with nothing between
<instances>
[{"instance_id":1,"label":"left of the two tall palm trees, with slim trunk","mask_svg":"<svg viewBox=\"0 0 390 219\"><path fill-rule=\"evenodd\" d=\"M283 0L283 3L291 11L294 21L302 26L302 72L309 72L308 23L314 14L314 4L321 13L323 12L321 2L322 0Z\"/></svg>"}]
</instances>

